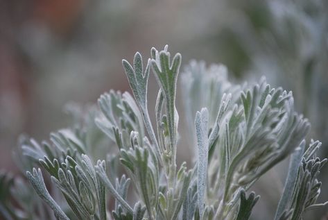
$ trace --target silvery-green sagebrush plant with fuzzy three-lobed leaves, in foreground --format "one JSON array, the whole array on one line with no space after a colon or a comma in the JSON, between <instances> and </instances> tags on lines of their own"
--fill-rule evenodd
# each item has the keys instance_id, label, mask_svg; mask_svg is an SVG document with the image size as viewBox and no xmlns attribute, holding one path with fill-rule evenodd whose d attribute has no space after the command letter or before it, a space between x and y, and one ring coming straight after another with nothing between
<instances>
[{"instance_id":1,"label":"silvery-green sagebrush plant with fuzzy three-lobed leaves, in foreground","mask_svg":"<svg viewBox=\"0 0 328 220\"><path fill-rule=\"evenodd\" d=\"M192 61L182 73L188 145L196 156L192 164L178 166L180 65L180 53L171 60L167 46L151 49L145 68L136 53L132 65L123 60L132 94L111 90L98 99L98 108L87 110L69 105L73 125L51 133L50 142L22 136L15 158L36 194L21 178L1 174L2 216L249 219L259 200L250 188L288 155L274 219L302 219L307 210L325 205L316 203L317 176L327 159L316 156L320 142L306 147L310 124L294 111L292 93L264 79L234 85L223 65ZM155 120L148 113L150 72L159 85Z\"/></svg>"}]
</instances>

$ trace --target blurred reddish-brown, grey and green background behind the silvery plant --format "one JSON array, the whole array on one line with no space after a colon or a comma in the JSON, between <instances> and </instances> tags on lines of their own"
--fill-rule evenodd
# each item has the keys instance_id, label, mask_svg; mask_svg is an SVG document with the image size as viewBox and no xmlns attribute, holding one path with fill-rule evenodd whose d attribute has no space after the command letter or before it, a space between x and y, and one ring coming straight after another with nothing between
<instances>
[{"instance_id":1,"label":"blurred reddish-brown, grey and green background behind the silvery plant","mask_svg":"<svg viewBox=\"0 0 328 220\"><path fill-rule=\"evenodd\" d=\"M325 0L0 0L0 169L17 172L11 155L19 134L47 139L68 125L63 109L70 101L95 103L110 89L130 90L121 59L131 61L135 51L147 58L151 46L165 44L182 53L183 65L221 62L232 81L264 75L292 90L297 111L311 121L311 137L322 142L322 158L328 156ZM154 78L149 84L154 103ZM328 200L327 168L319 202ZM272 178L258 186L253 219L275 212L279 183L261 189ZM327 208L309 214L327 218Z\"/></svg>"}]
</instances>

